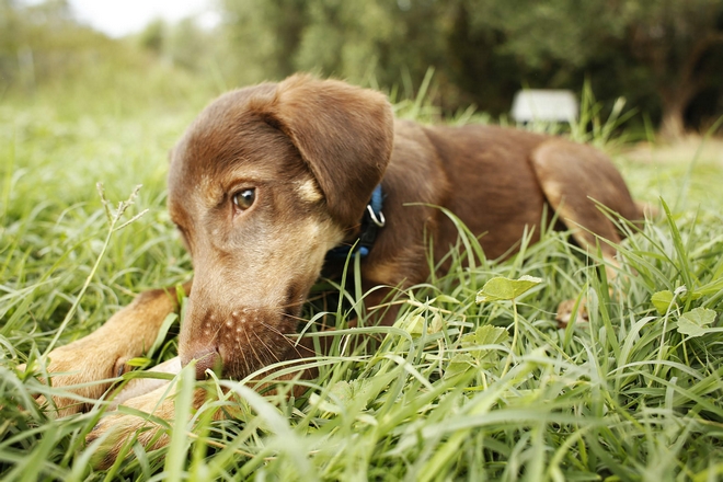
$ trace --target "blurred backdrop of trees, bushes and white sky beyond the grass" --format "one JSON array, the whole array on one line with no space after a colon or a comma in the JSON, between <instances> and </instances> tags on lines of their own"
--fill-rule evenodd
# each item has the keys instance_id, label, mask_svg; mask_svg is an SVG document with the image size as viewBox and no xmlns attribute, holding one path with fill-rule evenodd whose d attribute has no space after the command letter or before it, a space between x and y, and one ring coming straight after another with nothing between
<instances>
[{"instance_id":1,"label":"blurred backdrop of trees, bushes and white sky beyond the grass","mask_svg":"<svg viewBox=\"0 0 723 482\"><path fill-rule=\"evenodd\" d=\"M296 71L393 100L434 72L439 117L589 85L628 131L676 138L723 114L723 1L0 0L0 102L172 106Z\"/></svg>"}]
</instances>

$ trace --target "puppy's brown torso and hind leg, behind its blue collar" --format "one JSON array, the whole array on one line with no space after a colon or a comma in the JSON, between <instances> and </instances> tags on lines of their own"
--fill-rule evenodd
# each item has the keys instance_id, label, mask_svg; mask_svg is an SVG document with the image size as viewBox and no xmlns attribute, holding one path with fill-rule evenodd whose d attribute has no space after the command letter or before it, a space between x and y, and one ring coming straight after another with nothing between
<instances>
[{"instance_id":1,"label":"puppy's brown torso and hind leg, behind its blue collar","mask_svg":"<svg viewBox=\"0 0 723 482\"><path fill-rule=\"evenodd\" d=\"M382 185L389 196L387 218L401 228L392 228L393 239L380 240L380 257L404 259L409 250L403 246L418 253L425 234L435 234L437 259L449 251L458 229L431 206L448 209L481 237L490 259L510 252L525 229L532 230L531 241L537 241L540 222L549 222L554 213L556 228L573 230L583 245L594 244L594 234L620 239L596 202L626 219L642 218L610 160L590 147L496 126L431 127L397 120L394 129ZM418 260L398 268L409 275L415 263Z\"/></svg>"}]
</instances>

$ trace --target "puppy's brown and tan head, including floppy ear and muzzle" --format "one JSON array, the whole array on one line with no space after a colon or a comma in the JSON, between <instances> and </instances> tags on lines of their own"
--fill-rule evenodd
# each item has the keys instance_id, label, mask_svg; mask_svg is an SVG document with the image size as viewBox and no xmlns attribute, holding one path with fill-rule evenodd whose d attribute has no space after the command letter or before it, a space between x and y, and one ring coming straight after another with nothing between
<instances>
[{"instance_id":1,"label":"puppy's brown and tan head, including floppy ear and muzzle","mask_svg":"<svg viewBox=\"0 0 723 482\"><path fill-rule=\"evenodd\" d=\"M229 92L172 151L169 210L194 264L185 365L242 377L294 348L325 253L353 233L392 149L377 92L295 76Z\"/></svg>"}]
</instances>

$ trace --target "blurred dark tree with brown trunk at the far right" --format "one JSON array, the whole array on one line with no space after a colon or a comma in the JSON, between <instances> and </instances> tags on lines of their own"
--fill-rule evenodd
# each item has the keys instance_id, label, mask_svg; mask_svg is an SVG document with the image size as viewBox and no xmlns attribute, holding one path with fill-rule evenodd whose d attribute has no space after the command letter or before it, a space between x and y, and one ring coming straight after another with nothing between
<instances>
[{"instance_id":1,"label":"blurred dark tree with brown trunk at the far right","mask_svg":"<svg viewBox=\"0 0 723 482\"><path fill-rule=\"evenodd\" d=\"M606 68L619 94L655 95L662 134L684 134L686 108L697 94L720 82L721 61L711 51L723 44L720 0L468 0L478 30L496 30L501 50L542 68ZM642 67L642 68L641 68ZM601 73L601 72L600 72ZM720 85L720 84L719 84Z\"/></svg>"}]
</instances>

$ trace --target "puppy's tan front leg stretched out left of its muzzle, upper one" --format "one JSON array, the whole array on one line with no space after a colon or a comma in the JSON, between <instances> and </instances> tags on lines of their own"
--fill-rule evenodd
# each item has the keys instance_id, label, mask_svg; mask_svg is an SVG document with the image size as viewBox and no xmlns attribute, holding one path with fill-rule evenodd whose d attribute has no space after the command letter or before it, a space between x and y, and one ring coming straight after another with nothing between
<instances>
[{"instance_id":1,"label":"puppy's tan front leg stretched out left of its muzzle, upper one","mask_svg":"<svg viewBox=\"0 0 723 482\"><path fill-rule=\"evenodd\" d=\"M183 289L188 294L191 282ZM141 292L92 334L53 349L47 356L51 385L67 387L74 394L53 395L56 414L80 412L85 405L83 399L100 398L111 387L112 379L125 371L130 358L153 345L163 320L176 307L175 288ZM39 403L44 401L43 397L38 398Z\"/></svg>"}]
</instances>

